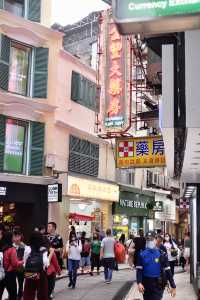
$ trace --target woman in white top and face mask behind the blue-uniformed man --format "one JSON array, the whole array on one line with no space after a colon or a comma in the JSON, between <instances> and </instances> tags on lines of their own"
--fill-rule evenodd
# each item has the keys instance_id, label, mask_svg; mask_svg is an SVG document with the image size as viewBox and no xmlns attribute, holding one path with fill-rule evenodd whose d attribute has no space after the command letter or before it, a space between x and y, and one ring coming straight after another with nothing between
<instances>
[{"instance_id":1,"label":"woman in white top and face mask behind the blue-uniformed man","mask_svg":"<svg viewBox=\"0 0 200 300\"><path fill-rule=\"evenodd\" d=\"M176 243L172 240L170 234L165 235L164 246L167 249L167 255L168 255L171 272L172 275L174 276L175 263L179 253L178 253L178 247Z\"/></svg>"}]
</instances>

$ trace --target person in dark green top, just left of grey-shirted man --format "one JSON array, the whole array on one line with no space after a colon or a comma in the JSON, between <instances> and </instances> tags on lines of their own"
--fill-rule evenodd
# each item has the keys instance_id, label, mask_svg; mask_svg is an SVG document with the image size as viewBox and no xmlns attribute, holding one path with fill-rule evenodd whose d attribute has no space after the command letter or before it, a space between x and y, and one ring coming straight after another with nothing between
<instances>
[{"instance_id":1,"label":"person in dark green top, just left of grey-shirted man","mask_svg":"<svg viewBox=\"0 0 200 300\"><path fill-rule=\"evenodd\" d=\"M91 244L91 275L93 276L94 268L97 268L97 275L99 275L100 270L100 252L101 252L101 242L99 241L99 236L97 233L93 235L93 241Z\"/></svg>"}]
</instances>

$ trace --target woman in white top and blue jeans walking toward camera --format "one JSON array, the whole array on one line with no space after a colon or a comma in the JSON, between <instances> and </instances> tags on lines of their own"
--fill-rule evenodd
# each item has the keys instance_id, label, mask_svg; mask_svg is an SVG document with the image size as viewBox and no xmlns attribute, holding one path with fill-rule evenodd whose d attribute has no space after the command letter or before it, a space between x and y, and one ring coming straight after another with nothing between
<instances>
[{"instance_id":1,"label":"woman in white top and blue jeans walking toward camera","mask_svg":"<svg viewBox=\"0 0 200 300\"><path fill-rule=\"evenodd\" d=\"M70 240L66 245L66 252L68 254L68 271L69 271L69 284L68 287L75 289L77 270L79 268L79 263L81 260L82 245L77 239L75 234L70 236Z\"/></svg>"}]
</instances>

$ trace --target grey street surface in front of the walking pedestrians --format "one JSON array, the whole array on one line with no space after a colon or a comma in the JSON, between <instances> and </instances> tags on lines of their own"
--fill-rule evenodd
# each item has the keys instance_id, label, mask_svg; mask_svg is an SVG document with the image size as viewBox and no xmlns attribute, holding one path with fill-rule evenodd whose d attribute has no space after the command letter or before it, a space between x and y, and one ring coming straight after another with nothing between
<instances>
[{"instance_id":1,"label":"grey street surface in front of the walking pedestrians","mask_svg":"<svg viewBox=\"0 0 200 300\"><path fill-rule=\"evenodd\" d=\"M135 280L135 273L131 270L114 272L113 282L104 283L103 273L100 276L80 276L75 290L69 289L68 279L56 283L55 299L59 300L106 300L122 299ZM116 297L116 298L115 298ZM122 298L121 298L122 297Z\"/></svg>"}]
</instances>

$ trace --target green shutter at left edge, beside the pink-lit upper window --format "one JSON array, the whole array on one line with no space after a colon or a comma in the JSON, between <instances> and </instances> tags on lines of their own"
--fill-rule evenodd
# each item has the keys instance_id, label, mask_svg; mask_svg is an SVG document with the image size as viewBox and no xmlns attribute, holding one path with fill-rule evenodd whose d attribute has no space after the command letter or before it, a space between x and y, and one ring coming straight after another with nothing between
<instances>
[{"instance_id":1,"label":"green shutter at left edge, beside the pink-lit upper window","mask_svg":"<svg viewBox=\"0 0 200 300\"><path fill-rule=\"evenodd\" d=\"M8 90L10 39L0 34L0 88Z\"/></svg>"}]
</instances>

